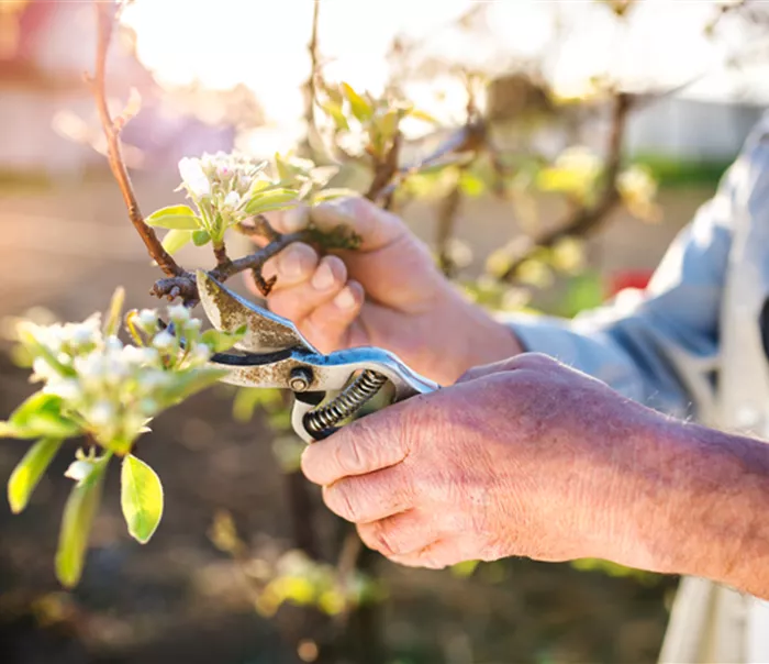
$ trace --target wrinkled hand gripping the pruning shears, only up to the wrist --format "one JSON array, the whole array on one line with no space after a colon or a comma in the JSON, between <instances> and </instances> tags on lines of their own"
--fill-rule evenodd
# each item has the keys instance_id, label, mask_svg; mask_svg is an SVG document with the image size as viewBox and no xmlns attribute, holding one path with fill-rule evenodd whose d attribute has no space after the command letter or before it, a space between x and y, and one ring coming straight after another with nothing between
<instances>
[{"instance_id":1,"label":"wrinkled hand gripping the pruning shears, only up to the wrist","mask_svg":"<svg viewBox=\"0 0 769 664\"><path fill-rule=\"evenodd\" d=\"M348 424L304 451L304 475L363 541L444 567L522 555L629 560L635 463L664 420L542 355Z\"/></svg>"}]
</instances>

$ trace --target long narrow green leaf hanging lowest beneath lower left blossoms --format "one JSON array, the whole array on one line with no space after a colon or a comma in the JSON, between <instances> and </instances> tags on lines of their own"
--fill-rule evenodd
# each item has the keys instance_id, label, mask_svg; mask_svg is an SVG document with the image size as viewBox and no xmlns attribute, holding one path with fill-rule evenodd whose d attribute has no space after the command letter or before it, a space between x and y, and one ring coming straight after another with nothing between
<instances>
[{"instance_id":1,"label":"long narrow green leaf hanging lowest beneath lower left blossoms","mask_svg":"<svg viewBox=\"0 0 769 664\"><path fill-rule=\"evenodd\" d=\"M110 456L108 453L93 464L91 472L73 487L64 506L56 552L56 577L66 588L77 586L82 575L86 549L99 509Z\"/></svg>"}]
</instances>

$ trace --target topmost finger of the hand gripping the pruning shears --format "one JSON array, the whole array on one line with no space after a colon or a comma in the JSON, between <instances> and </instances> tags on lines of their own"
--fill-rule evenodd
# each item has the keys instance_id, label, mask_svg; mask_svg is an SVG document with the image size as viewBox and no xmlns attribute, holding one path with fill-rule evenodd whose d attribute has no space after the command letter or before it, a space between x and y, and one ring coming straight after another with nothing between
<instances>
[{"instance_id":1,"label":"topmost finger of the hand gripping the pruning shears","mask_svg":"<svg viewBox=\"0 0 769 664\"><path fill-rule=\"evenodd\" d=\"M302 473L315 484L331 485L343 477L374 473L400 464L408 455L406 439L392 435L398 405L343 427L331 438L308 445Z\"/></svg>"}]
</instances>

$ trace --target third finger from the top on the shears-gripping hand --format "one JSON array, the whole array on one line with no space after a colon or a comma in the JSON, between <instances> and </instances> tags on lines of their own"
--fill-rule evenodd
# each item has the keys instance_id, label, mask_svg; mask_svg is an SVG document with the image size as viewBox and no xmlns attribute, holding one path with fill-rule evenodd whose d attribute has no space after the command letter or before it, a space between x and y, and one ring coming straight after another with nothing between
<instances>
[{"instance_id":1,"label":"third finger from the top on the shears-gripping hand","mask_svg":"<svg viewBox=\"0 0 769 664\"><path fill-rule=\"evenodd\" d=\"M439 536L437 529L416 510L360 523L357 528L364 544L387 557L422 551Z\"/></svg>"}]
</instances>

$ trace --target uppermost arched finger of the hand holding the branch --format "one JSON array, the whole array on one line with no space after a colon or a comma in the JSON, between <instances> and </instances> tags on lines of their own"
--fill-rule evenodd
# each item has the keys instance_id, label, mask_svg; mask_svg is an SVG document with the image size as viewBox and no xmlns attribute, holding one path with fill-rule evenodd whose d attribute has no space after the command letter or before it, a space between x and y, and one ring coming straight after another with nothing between
<instances>
[{"instance_id":1,"label":"uppermost arched finger of the hand holding the branch","mask_svg":"<svg viewBox=\"0 0 769 664\"><path fill-rule=\"evenodd\" d=\"M337 198L320 203L310 210L309 218L321 231L346 226L360 237L363 251L382 248L406 233L399 217L365 198Z\"/></svg>"}]
</instances>

